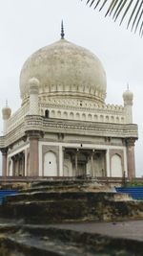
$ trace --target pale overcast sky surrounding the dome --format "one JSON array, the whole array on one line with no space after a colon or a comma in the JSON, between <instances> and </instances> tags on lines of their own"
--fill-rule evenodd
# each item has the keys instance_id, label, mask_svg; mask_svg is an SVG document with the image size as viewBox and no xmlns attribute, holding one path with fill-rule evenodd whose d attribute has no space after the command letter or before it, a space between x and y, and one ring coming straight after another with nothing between
<instances>
[{"instance_id":1,"label":"pale overcast sky surrounding the dome","mask_svg":"<svg viewBox=\"0 0 143 256\"><path fill-rule=\"evenodd\" d=\"M140 176L143 175L143 39L85 3L80 0L0 1L0 108L6 99L12 112L19 108L19 75L23 63L33 52L60 38L63 19L66 39L88 48L102 61L107 74L106 102L123 105L122 93L127 83L133 91L133 123L139 128L136 175Z\"/></svg>"}]
</instances>

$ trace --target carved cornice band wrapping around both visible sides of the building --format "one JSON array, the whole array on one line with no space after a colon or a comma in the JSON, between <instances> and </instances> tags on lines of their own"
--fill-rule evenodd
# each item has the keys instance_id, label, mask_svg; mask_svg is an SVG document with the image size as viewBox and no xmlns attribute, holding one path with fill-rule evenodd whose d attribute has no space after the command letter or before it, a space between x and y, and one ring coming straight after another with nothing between
<instances>
[{"instance_id":1,"label":"carved cornice band wrapping around both visible sides of the building","mask_svg":"<svg viewBox=\"0 0 143 256\"><path fill-rule=\"evenodd\" d=\"M28 115L25 121L11 130L7 135L0 137L0 148L10 147L11 144L29 135L43 136L44 133L78 134L97 137L133 138L137 139L137 125L134 124L104 124L75 120L61 120ZM37 134L36 134L37 135Z\"/></svg>"}]
</instances>

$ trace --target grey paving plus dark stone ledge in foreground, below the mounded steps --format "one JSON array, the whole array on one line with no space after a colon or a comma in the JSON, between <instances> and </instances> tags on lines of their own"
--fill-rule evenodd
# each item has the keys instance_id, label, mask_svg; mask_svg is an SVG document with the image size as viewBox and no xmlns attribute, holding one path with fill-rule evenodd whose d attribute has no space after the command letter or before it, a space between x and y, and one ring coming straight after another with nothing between
<instances>
[{"instance_id":1,"label":"grey paving plus dark stone ledge in foreground, below the mounded steps","mask_svg":"<svg viewBox=\"0 0 143 256\"><path fill-rule=\"evenodd\" d=\"M143 221L54 225L0 222L2 256L142 256ZM123 231L117 235L121 227Z\"/></svg>"}]
</instances>

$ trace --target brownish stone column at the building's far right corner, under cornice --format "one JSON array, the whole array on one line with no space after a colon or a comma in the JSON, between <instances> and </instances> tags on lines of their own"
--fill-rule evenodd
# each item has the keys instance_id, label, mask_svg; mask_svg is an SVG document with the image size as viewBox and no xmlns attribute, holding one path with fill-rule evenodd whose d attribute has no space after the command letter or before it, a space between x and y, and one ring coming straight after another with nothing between
<instances>
[{"instance_id":1,"label":"brownish stone column at the building's far right corner, under cornice","mask_svg":"<svg viewBox=\"0 0 143 256\"><path fill-rule=\"evenodd\" d=\"M128 166L128 177L135 177L135 162L134 162L134 138L128 138L127 144L127 166Z\"/></svg>"}]
</instances>

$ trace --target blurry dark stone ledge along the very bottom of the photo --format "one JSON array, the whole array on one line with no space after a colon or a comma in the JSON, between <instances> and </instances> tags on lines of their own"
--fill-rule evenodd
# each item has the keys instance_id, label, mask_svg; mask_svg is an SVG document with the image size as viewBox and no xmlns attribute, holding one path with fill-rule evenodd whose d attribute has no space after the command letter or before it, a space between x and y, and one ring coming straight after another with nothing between
<instances>
[{"instance_id":1,"label":"blurry dark stone ledge along the very bottom of the photo","mask_svg":"<svg viewBox=\"0 0 143 256\"><path fill-rule=\"evenodd\" d=\"M142 251L142 240L55 225L0 224L2 256L142 256Z\"/></svg>"}]
</instances>

